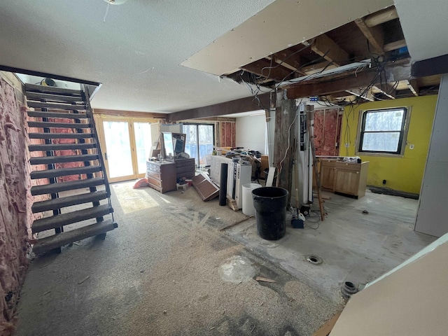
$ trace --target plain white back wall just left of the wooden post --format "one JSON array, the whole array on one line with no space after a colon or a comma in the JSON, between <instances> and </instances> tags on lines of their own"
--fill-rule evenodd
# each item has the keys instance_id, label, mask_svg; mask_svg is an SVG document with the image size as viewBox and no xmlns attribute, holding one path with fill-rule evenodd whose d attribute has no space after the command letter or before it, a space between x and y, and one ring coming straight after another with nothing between
<instances>
[{"instance_id":1,"label":"plain white back wall just left of the wooden post","mask_svg":"<svg viewBox=\"0 0 448 336\"><path fill-rule=\"evenodd\" d=\"M265 153L266 118L264 113L260 116L239 117L236 126L237 147Z\"/></svg>"}]
</instances>

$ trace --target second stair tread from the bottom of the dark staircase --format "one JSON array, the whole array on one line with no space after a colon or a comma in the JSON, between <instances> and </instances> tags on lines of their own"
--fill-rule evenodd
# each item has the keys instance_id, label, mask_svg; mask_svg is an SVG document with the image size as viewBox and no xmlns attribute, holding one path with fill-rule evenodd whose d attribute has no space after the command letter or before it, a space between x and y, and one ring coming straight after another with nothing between
<instances>
[{"instance_id":1,"label":"second stair tread from the bottom of the dark staircase","mask_svg":"<svg viewBox=\"0 0 448 336\"><path fill-rule=\"evenodd\" d=\"M37 219L34 221L31 229L33 233L41 232L54 228L61 228L64 225L85 221L90 218L97 218L106 216L113 211L109 204L99 205L98 207L91 207L87 209L68 212L57 216L50 216L46 218Z\"/></svg>"}]
</instances>

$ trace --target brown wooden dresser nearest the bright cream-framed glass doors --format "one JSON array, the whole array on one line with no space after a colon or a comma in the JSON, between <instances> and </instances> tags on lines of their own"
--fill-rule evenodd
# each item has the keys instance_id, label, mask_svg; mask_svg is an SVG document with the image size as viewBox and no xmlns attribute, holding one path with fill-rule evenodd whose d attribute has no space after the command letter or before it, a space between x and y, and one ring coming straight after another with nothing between
<instances>
[{"instance_id":1,"label":"brown wooden dresser nearest the bright cream-framed glass doors","mask_svg":"<svg viewBox=\"0 0 448 336\"><path fill-rule=\"evenodd\" d=\"M146 161L146 178L149 186L162 194L176 190L176 164Z\"/></svg>"}]
</instances>

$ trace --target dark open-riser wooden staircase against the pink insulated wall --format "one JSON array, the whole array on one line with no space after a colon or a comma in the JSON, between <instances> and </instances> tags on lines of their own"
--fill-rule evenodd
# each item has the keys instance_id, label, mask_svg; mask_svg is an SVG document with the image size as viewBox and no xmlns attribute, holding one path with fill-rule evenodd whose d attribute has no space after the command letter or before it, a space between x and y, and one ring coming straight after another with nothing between
<instances>
[{"instance_id":1,"label":"dark open-riser wooden staircase against the pink insulated wall","mask_svg":"<svg viewBox=\"0 0 448 336\"><path fill-rule=\"evenodd\" d=\"M34 253L60 252L61 246L92 236L105 239L106 232L118 225L113 220L111 190L90 108L88 88L83 86L83 90L68 90L27 84L25 90L27 104L35 110L27 111L28 116L36 119L29 121L28 126L43 130L29 132L29 139L45 141L45 144L29 145L30 152L43 151L45 154L31 158L30 164L46 167L31 172L31 179L49 181L48 184L31 187L31 195L50 195L49 200L34 202L31 210L33 213L52 211L52 216L34 221L31 229L33 233L55 230L54 235L38 238L33 247ZM59 144L61 141L62 144ZM70 155L60 155L62 152ZM78 180L63 181L64 176L78 176ZM105 219L105 216L111 218ZM83 221L88 222L79 223ZM76 228L64 231L65 225L74 223L79 223L74 225Z\"/></svg>"}]
</instances>

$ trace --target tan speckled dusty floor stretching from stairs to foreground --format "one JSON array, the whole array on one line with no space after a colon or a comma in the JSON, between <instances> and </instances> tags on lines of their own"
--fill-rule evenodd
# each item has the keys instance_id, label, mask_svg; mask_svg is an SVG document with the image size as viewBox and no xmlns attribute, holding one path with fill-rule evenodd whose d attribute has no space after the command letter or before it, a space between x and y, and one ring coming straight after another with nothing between
<instances>
[{"instance_id":1,"label":"tan speckled dusty floor stretching from stairs to foreground","mask_svg":"<svg viewBox=\"0 0 448 336\"><path fill-rule=\"evenodd\" d=\"M112 186L119 227L104 241L31 262L16 335L312 335L342 309L220 232L241 211L202 202L193 188L131 186Z\"/></svg>"}]
</instances>

